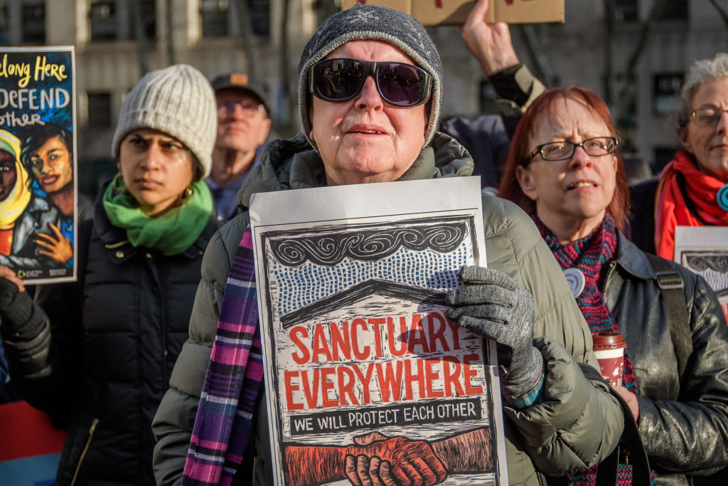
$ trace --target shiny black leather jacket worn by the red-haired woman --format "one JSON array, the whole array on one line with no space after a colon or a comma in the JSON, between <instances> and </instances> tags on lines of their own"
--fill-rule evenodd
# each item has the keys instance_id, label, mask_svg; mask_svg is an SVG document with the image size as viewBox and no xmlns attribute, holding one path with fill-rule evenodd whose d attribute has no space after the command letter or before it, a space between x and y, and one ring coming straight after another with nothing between
<instances>
[{"instance_id":1,"label":"shiny black leather jacket worn by the red-haired woman","mask_svg":"<svg viewBox=\"0 0 728 486\"><path fill-rule=\"evenodd\" d=\"M684 281L692 334L681 382L656 275L621 232L603 291L635 369L637 423L657 484L687 485L685 473L710 474L728 463L728 326L708 283L670 263Z\"/></svg>"}]
</instances>

